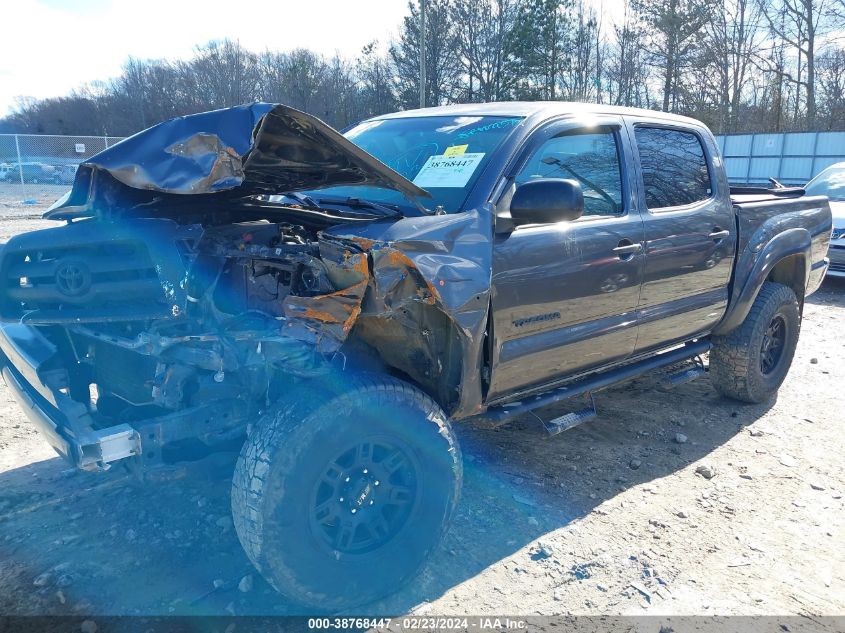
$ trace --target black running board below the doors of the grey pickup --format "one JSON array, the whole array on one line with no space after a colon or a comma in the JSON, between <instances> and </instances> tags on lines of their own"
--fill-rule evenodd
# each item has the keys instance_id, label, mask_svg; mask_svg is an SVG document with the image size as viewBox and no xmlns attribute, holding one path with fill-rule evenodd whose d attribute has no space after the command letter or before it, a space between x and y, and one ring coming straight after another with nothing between
<instances>
[{"instance_id":1,"label":"black running board below the doors of the grey pickup","mask_svg":"<svg viewBox=\"0 0 845 633\"><path fill-rule=\"evenodd\" d=\"M580 380L575 380L562 387L535 396L492 406L478 417L483 419L488 425L497 427L534 409L546 407L563 400L569 400L576 396L583 396L599 389L605 389L611 385L636 378L647 371L668 367L695 358L709 350L710 341L707 340L687 343L682 347L676 347L662 354L655 354L654 356L649 356L628 365L622 365L606 372L588 375Z\"/></svg>"}]
</instances>

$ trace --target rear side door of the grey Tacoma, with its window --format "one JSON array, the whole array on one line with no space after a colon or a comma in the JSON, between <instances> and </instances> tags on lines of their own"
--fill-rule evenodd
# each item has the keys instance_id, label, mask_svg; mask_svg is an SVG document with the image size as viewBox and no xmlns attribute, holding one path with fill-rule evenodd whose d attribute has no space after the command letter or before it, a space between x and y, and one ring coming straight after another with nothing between
<instances>
[{"instance_id":1,"label":"rear side door of the grey Tacoma, with its window","mask_svg":"<svg viewBox=\"0 0 845 633\"><path fill-rule=\"evenodd\" d=\"M728 303L736 222L721 159L703 129L629 120L645 230L637 352L704 334Z\"/></svg>"}]
</instances>

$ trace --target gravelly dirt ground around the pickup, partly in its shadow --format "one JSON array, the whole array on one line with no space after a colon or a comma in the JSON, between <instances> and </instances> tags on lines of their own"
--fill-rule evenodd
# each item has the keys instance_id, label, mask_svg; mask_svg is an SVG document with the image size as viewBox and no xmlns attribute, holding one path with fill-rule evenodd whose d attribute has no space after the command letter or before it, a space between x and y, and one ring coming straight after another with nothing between
<instances>
[{"instance_id":1,"label":"gravelly dirt ground around the pickup, partly in its shadow","mask_svg":"<svg viewBox=\"0 0 845 633\"><path fill-rule=\"evenodd\" d=\"M45 226L56 194L16 195L0 192L0 241ZM459 424L465 485L443 546L358 612L845 614L845 283L804 314L786 383L761 405L646 376L556 437L530 417ZM241 550L227 468L146 487L78 473L0 387L0 614L294 612Z\"/></svg>"}]
</instances>

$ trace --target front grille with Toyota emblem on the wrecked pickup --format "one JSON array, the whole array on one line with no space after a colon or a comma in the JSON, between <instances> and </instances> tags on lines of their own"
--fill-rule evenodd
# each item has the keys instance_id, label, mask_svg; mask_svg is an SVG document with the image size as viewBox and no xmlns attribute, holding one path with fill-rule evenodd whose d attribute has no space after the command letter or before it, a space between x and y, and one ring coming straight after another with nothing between
<instances>
[{"instance_id":1,"label":"front grille with Toyota emblem on the wrecked pickup","mask_svg":"<svg viewBox=\"0 0 845 633\"><path fill-rule=\"evenodd\" d=\"M13 237L0 259L0 318L133 321L182 313L175 223L73 222Z\"/></svg>"}]
</instances>

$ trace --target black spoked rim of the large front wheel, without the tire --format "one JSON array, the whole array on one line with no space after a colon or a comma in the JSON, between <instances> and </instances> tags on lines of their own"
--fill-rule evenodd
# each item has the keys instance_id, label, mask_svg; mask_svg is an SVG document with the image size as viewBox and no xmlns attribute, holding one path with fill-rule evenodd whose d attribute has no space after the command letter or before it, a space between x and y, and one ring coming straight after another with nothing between
<instances>
[{"instance_id":1,"label":"black spoked rim of the large front wheel, without the tire","mask_svg":"<svg viewBox=\"0 0 845 633\"><path fill-rule=\"evenodd\" d=\"M417 502L420 469L395 439L367 439L329 462L314 488L311 527L334 552L372 552L393 540Z\"/></svg>"}]
</instances>

